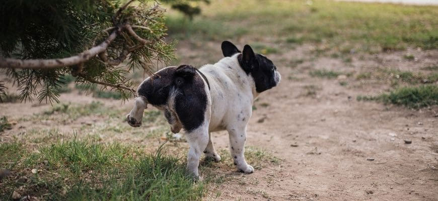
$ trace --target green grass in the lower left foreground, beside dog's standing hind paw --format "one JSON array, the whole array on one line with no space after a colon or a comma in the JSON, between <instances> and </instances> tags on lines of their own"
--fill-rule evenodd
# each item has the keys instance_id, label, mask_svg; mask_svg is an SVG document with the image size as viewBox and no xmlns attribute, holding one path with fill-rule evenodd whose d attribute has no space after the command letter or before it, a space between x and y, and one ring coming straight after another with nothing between
<instances>
[{"instance_id":1,"label":"green grass in the lower left foreground, beside dog's standing hind paw","mask_svg":"<svg viewBox=\"0 0 438 201\"><path fill-rule=\"evenodd\" d=\"M0 199L11 199L15 190L44 200L199 200L208 181L187 177L182 161L163 147L147 154L116 143L71 140L29 152L20 143L2 143L0 166L16 165L2 181ZM16 182L21 176L28 181Z\"/></svg>"}]
</instances>

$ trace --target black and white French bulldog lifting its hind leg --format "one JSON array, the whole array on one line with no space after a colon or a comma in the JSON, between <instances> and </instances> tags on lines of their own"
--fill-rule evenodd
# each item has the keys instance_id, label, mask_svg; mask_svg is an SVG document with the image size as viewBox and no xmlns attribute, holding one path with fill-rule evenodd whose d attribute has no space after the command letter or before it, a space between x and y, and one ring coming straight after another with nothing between
<instances>
[{"instance_id":1,"label":"black and white French bulldog lifting its hind leg","mask_svg":"<svg viewBox=\"0 0 438 201\"><path fill-rule=\"evenodd\" d=\"M201 153L221 160L211 142L211 132L227 130L230 151L239 171L254 172L245 161L246 127L254 99L276 86L280 73L271 60L256 54L249 45L243 52L229 42L222 43L225 58L202 66L166 67L145 79L137 89L134 108L126 116L139 127L148 104L164 111L173 133L186 131L190 145L187 172L199 177Z\"/></svg>"}]
</instances>

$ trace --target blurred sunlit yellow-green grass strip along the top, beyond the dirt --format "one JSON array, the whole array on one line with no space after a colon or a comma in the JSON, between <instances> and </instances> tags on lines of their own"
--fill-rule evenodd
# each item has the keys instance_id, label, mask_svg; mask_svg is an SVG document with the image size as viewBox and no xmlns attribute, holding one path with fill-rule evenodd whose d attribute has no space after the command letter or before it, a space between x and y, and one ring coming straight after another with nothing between
<instances>
[{"instance_id":1,"label":"blurred sunlit yellow-green grass strip along the top, beyond the dirt","mask_svg":"<svg viewBox=\"0 0 438 201\"><path fill-rule=\"evenodd\" d=\"M352 47L356 52L403 50L408 46L438 48L436 7L318 0L312 3L309 6L302 1L273 0L260 6L256 0L212 1L193 22L169 17L167 25L170 35L207 35L218 41L238 40L245 35L248 42L263 38L282 39L289 44L325 43L338 51L342 47Z\"/></svg>"}]
</instances>

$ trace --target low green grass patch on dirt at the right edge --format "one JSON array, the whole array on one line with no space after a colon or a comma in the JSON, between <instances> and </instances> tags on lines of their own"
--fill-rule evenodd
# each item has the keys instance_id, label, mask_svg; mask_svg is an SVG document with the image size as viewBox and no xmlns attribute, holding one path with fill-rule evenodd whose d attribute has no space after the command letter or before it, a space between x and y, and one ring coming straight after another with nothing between
<instances>
[{"instance_id":1,"label":"low green grass patch on dirt at the right edge","mask_svg":"<svg viewBox=\"0 0 438 201\"><path fill-rule=\"evenodd\" d=\"M357 100L378 100L385 104L418 109L438 105L438 86L433 84L405 86L378 96L357 96Z\"/></svg>"}]
</instances>

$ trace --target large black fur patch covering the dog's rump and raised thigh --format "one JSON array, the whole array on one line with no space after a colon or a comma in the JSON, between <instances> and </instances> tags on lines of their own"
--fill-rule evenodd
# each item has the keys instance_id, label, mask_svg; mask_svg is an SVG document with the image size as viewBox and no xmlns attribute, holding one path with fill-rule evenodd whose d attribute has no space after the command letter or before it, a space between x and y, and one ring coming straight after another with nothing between
<instances>
[{"instance_id":1,"label":"large black fur patch covering the dog's rump and raised thigh","mask_svg":"<svg viewBox=\"0 0 438 201\"><path fill-rule=\"evenodd\" d=\"M168 104L172 88L178 93L175 96L174 110L183 128L191 132L203 123L207 106L207 94L205 90L199 90L205 88L204 81L193 66L181 65L159 71L144 81L137 91L149 104L160 107ZM169 114L165 112L165 116L167 115Z\"/></svg>"}]
</instances>

